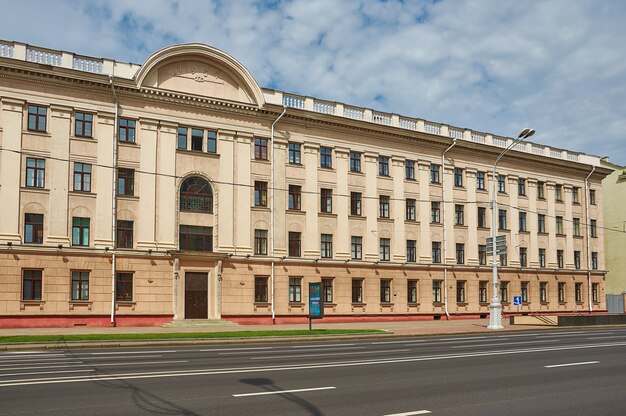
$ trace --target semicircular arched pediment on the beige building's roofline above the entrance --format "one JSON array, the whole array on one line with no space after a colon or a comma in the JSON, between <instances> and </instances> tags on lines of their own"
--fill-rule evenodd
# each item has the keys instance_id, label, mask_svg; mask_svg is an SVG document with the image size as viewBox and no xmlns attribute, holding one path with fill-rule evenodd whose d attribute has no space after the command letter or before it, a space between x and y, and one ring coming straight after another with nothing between
<instances>
[{"instance_id":1,"label":"semicircular arched pediment on the beige building's roofline above the entrance","mask_svg":"<svg viewBox=\"0 0 626 416\"><path fill-rule=\"evenodd\" d=\"M262 107L261 87L232 56L207 45L169 46L151 55L135 75L139 88L154 88Z\"/></svg>"}]
</instances>

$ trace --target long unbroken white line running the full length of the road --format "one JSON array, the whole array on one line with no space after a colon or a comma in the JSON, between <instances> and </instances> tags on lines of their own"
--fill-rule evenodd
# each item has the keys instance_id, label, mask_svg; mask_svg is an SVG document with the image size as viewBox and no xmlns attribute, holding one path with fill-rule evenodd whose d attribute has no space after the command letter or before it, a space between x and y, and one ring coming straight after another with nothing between
<instances>
[{"instance_id":1,"label":"long unbroken white line running the full length of the road","mask_svg":"<svg viewBox=\"0 0 626 416\"><path fill-rule=\"evenodd\" d=\"M482 351L475 353L459 353L459 354L444 354L444 355L431 355L431 356L419 356L419 357L399 357L399 358L387 358L387 359L374 359L374 360L359 360L359 361L336 361L329 363L311 363L311 364L293 364L293 365L281 365L281 366L261 366L261 367L242 367L242 368L223 368L223 369L200 369L200 370L187 370L187 371L159 371L159 372L146 372L146 373L121 373L121 374L109 374L98 375L92 374L89 377L58 377L49 379L33 379L31 380L7 380L0 382L0 387L10 386L22 386L22 385L37 385L37 384L59 384L59 383L86 383L108 380L130 380L130 379L148 379L148 378L169 378L169 377L190 377L190 376L206 376L206 375L221 375L221 374L241 374L241 373L266 373L271 371L292 371L292 370L318 370L320 368L338 368L338 367L358 367L364 365L388 365L394 363L407 363L407 362L421 362L421 361L433 361L433 360L449 360L457 358L471 358L471 357L485 357L494 355L513 355L513 354L528 354L534 352L551 352L551 351L566 351L566 350L579 350L579 349L591 349L591 348L612 348L612 347L624 347L626 342L613 342L605 344L583 344L583 345L569 345L569 346L550 346L542 348L526 348L519 350L492 350ZM131 364L131 363L126 363Z\"/></svg>"}]
</instances>

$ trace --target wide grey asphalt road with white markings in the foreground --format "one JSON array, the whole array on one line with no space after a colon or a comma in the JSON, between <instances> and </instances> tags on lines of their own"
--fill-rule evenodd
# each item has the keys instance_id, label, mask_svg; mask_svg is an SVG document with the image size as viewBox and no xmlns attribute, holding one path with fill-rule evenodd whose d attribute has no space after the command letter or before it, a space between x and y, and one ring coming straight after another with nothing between
<instances>
[{"instance_id":1,"label":"wide grey asphalt road with white markings in the foreground","mask_svg":"<svg viewBox=\"0 0 626 416\"><path fill-rule=\"evenodd\" d=\"M0 354L2 415L624 415L626 329Z\"/></svg>"}]
</instances>

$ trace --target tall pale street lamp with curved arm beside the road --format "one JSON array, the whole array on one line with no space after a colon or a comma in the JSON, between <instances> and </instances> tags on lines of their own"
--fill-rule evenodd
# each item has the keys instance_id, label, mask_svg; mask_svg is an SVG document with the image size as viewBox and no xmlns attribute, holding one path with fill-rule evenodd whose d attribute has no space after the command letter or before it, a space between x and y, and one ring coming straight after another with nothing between
<instances>
[{"instance_id":1,"label":"tall pale street lamp with curved arm beside the road","mask_svg":"<svg viewBox=\"0 0 626 416\"><path fill-rule=\"evenodd\" d=\"M491 192L491 264L492 264L492 285L493 285L493 296L491 297L491 305L489 305L489 326L488 329L502 329L502 305L500 304L500 298L498 296L498 262L496 260L496 232L497 232L497 218L498 214L497 210L497 198L496 198L496 167L498 166L498 162L502 159L509 150L511 150L515 145L521 143L526 140L530 136L535 134L535 130L529 129L528 127L522 130L522 132L517 136L517 139L513 140L513 142L498 155L496 158L496 162L493 164L493 173L492 173L492 192Z\"/></svg>"}]
</instances>

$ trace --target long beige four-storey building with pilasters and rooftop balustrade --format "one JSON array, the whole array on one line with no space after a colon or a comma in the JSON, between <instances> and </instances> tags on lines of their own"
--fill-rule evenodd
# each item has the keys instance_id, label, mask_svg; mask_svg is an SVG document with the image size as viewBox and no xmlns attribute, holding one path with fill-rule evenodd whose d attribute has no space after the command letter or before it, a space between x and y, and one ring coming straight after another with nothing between
<instances>
[{"instance_id":1,"label":"long beige four-storey building with pilasters and rooftop balustrade","mask_svg":"<svg viewBox=\"0 0 626 416\"><path fill-rule=\"evenodd\" d=\"M512 140L263 89L201 44L134 65L0 41L0 326L302 322L320 281L327 321L486 316ZM501 160L505 314L605 311L607 173Z\"/></svg>"}]
</instances>

